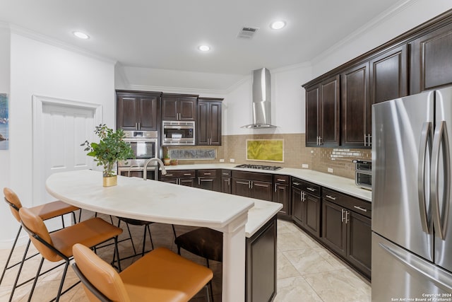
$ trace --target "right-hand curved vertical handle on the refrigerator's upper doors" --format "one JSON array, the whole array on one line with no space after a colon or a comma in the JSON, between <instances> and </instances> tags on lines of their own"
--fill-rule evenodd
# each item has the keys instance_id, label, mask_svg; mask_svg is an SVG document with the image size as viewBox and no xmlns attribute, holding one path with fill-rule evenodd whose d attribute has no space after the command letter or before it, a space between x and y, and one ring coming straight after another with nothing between
<instances>
[{"instance_id":1,"label":"right-hand curved vertical handle on the refrigerator's upper doors","mask_svg":"<svg viewBox=\"0 0 452 302\"><path fill-rule=\"evenodd\" d=\"M441 217L441 210L439 209L439 151L443 146L443 161L444 161L444 194L443 194L443 213ZM447 134L446 121L441 121L439 126L436 127L435 135L433 139L433 151L432 151L432 175L430 176L430 190L432 200L432 216L433 225L436 233L441 240L446 238L446 230L448 227L448 214L449 214L449 197L451 194L451 160L449 158L449 141Z\"/></svg>"}]
</instances>

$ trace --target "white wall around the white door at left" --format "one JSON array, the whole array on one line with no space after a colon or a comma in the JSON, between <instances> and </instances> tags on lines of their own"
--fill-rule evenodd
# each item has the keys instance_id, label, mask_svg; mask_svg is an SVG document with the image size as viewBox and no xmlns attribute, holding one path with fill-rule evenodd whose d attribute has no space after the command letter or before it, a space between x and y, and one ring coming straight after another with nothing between
<instances>
[{"instance_id":1,"label":"white wall around the white door at left","mask_svg":"<svg viewBox=\"0 0 452 302\"><path fill-rule=\"evenodd\" d=\"M1 64L1 63L0 63ZM103 120L115 125L114 62L54 47L11 33L10 167L0 170L0 182L13 189L25 207L42 201L32 196L32 95L96 103ZM1 245L11 246L18 224L0 211ZM11 226L9 228L8 226Z\"/></svg>"}]
</instances>

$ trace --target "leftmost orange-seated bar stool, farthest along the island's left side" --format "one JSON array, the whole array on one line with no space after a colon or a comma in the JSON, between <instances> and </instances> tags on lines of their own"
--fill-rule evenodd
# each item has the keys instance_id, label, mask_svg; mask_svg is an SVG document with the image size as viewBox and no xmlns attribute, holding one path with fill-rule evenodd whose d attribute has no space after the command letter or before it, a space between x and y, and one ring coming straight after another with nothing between
<instances>
[{"instance_id":1,"label":"leftmost orange-seated bar stool, farthest along the island's left side","mask_svg":"<svg viewBox=\"0 0 452 302\"><path fill-rule=\"evenodd\" d=\"M4 187L3 193L4 193L5 202L10 207L11 214L13 214L13 217L19 223L19 229L18 229L16 238L14 239L13 247L11 248L11 251L9 252L8 260L6 260L5 267L4 267L3 272L1 273L1 277L0 277L0 284L1 284L1 282L4 279L6 270L16 267L17 265L20 265L20 267L18 269L18 273L16 275L16 279L13 284L13 289L11 289L11 294L10 294L10 298L9 298L9 301L11 301L11 299L13 298L14 291L16 291L16 289L19 286L22 286L23 284L28 283L29 281L32 280L32 279L28 279L27 281L23 281L21 284L18 284L20 272L22 271L22 267L23 267L23 262L25 262L25 260L30 259L31 257L35 257L36 255L38 255L38 253L35 255L31 255L30 257L27 257L28 248L30 248L30 240L28 240L27 246L25 248L25 252L23 253L22 260L20 262L14 263L13 265L9 265L11 256L13 255L14 248L16 248L17 240L20 236L20 231L22 231L22 224L20 224L20 216L19 216L19 210L22 207L22 203L20 202L20 199L17 196L17 194L15 192L13 192L13 190L11 190L10 188ZM66 204L65 202L61 202L60 200L57 200L55 202L49 202L47 204L42 204L40 206L32 207L29 209L36 215L40 216L40 218L42 220L52 219L52 218L61 216L61 223L62 223L62 227L64 228L64 217L63 216L65 214L72 214L73 221L74 221L74 223L76 223L75 211L77 211L79 208L73 207L70 204Z\"/></svg>"}]
</instances>

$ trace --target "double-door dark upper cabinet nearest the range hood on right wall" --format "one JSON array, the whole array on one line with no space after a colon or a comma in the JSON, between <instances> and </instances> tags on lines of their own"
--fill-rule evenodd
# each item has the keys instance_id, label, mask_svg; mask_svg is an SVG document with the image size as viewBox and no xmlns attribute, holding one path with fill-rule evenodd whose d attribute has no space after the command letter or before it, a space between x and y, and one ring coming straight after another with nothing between
<instances>
[{"instance_id":1,"label":"double-door dark upper cabinet nearest the range hood on right wall","mask_svg":"<svg viewBox=\"0 0 452 302\"><path fill-rule=\"evenodd\" d=\"M307 88L306 146L339 146L339 79Z\"/></svg>"}]
</instances>

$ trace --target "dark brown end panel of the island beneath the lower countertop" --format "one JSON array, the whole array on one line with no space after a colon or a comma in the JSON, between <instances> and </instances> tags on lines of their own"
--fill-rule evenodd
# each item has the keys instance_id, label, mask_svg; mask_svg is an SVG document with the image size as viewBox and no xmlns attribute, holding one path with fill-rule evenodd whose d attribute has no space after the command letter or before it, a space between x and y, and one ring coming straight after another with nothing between
<instances>
[{"instance_id":1,"label":"dark brown end panel of the island beneath the lower countertop","mask_svg":"<svg viewBox=\"0 0 452 302\"><path fill-rule=\"evenodd\" d=\"M276 216L246 238L245 301L266 302L276 296Z\"/></svg>"}]
</instances>

